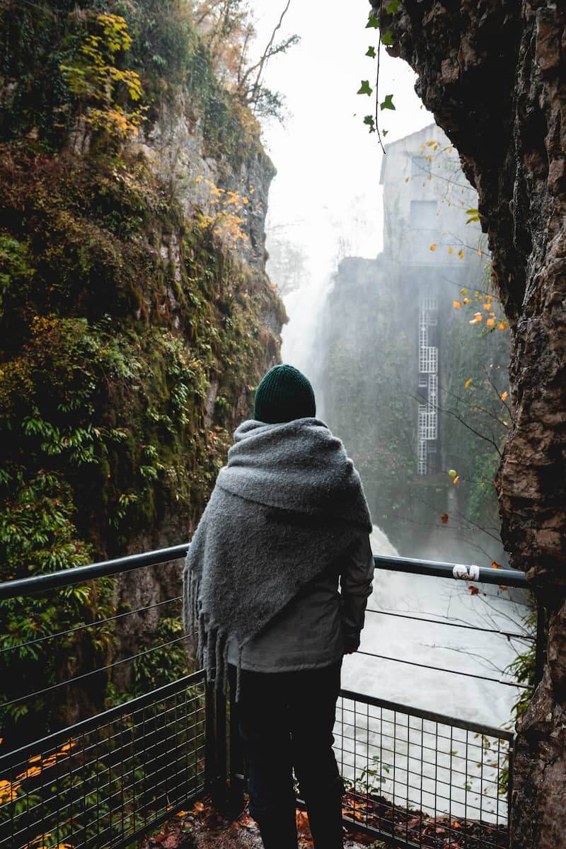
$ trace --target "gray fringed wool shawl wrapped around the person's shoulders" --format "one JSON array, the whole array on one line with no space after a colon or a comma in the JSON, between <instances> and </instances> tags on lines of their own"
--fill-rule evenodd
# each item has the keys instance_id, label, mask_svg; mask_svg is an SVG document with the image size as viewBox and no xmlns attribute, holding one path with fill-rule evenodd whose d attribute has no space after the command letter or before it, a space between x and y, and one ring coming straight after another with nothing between
<instances>
[{"instance_id":1,"label":"gray fringed wool shawl wrapped around the person's shoulders","mask_svg":"<svg viewBox=\"0 0 566 849\"><path fill-rule=\"evenodd\" d=\"M207 681L226 690L235 638L238 701L244 645L361 528L372 531L360 476L324 422L240 424L183 570L183 624Z\"/></svg>"}]
</instances>

